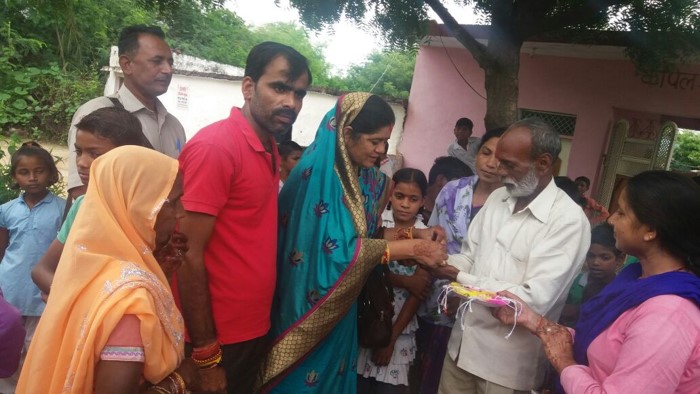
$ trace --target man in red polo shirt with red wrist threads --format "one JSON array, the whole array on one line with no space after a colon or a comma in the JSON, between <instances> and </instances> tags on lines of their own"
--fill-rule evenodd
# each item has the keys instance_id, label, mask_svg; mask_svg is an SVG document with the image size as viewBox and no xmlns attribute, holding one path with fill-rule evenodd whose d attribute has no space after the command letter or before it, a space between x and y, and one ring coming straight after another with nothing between
<instances>
[{"instance_id":1,"label":"man in red polo shirt with red wrist threads","mask_svg":"<svg viewBox=\"0 0 700 394\"><path fill-rule=\"evenodd\" d=\"M206 390L252 393L270 328L277 251L279 154L311 71L286 45L264 42L248 54L245 103L199 131L180 154L190 249L178 290L192 358Z\"/></svg>"}]
</instances>

